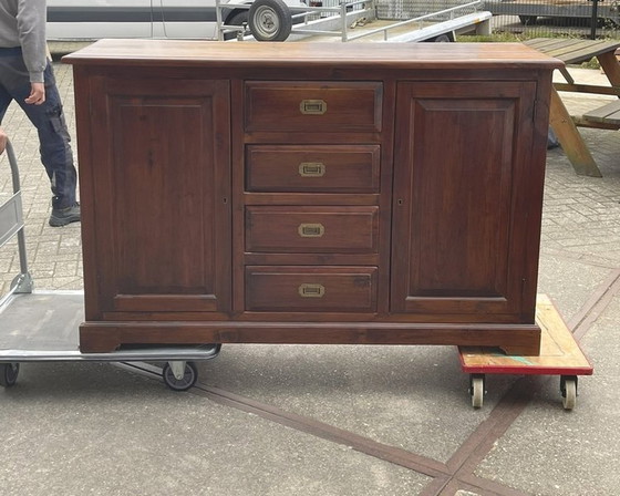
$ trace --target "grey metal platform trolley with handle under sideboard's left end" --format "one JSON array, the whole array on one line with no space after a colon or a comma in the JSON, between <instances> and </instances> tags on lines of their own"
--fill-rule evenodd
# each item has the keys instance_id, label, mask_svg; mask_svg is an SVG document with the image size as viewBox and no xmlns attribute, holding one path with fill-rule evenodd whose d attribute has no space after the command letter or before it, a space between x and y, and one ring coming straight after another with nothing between
<instances>
[{"instance_id":1,"label":"grey metal platform trolley with handle under sideboard's left end","mask_svg":"<svg viewBox=\"0 0 620 496\"><path fill-rule=\"evenodd\" d=\"M16 384L24 362L164 362L161 373L174 391L198 379L195 361L217 356L220 344L133 347L111 353L80 352L79 326L84 320L82 291L34 291L28 270L19 169L7 145L13 195L0 205L0 248L17 236L20 273L0 299L0 385Z\"/></svg>"}]
</instances>

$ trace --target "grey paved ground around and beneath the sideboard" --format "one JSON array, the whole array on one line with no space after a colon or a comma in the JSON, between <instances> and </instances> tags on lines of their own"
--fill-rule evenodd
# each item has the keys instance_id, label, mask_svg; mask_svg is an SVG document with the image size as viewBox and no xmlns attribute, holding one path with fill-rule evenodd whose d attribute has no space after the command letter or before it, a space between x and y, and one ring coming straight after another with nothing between
<instances>
[{"instance_id":1,"label":"grey paved ground around and beneath the sideboard","mask_svg":"<svg viewBox=\"0 0 620 496\"><path fill-rule=\"evenodd\" d=\"M55 71L74 135L71 68ZM566 95L575 112L599 99ZM80 289L80 227L48 226L34 131L14 107L3 126L37 288ZM603 177L548 152L539 277L595 364L575 411L557 378L518 376L489 376L473 410L450 347L226 345L183 394L148 368L29 363L0 390L0 495L620 494L620 134L581 133ZM4 291L17 267L6 246Z\"/></svg>"}]
</instances>

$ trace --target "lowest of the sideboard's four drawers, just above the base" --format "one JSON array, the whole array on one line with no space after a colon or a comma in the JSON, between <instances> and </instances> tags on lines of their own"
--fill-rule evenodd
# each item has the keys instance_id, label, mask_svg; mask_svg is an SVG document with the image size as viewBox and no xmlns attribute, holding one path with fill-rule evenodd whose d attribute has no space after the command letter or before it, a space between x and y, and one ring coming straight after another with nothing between
<instances>
[{"instance_id":1,"label":"lowest of the sideboard's four drawers, just above the base","mask_svg":"<svg viewBox=\"0 0 620 496\"><path fill-rule=\"evenodd\" d=\"M376 267L246 267L246 310L375 312Z\"/></svg>"}]
</instances>

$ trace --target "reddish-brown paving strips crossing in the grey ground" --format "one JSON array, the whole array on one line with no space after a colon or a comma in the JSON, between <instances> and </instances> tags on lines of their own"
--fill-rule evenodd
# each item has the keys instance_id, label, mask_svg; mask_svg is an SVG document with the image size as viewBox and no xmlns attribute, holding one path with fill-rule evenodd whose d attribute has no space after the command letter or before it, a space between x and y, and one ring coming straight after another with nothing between
<instances>
[{"instance_id":1,"label":"reddish-brown paving strips crossing in the grey ground","mask_svg":"<svg viewBox=\"0 0 620 496\"><path fill-rule=\"evenodd\" d=\"M620 292L620 269L597 288L592 296L574 317L574 335L579 341ZM159 379L156 368L148 364L127 366L151 378ZM347 445L360 453L393 463L432 477L420 496L453 496L456 490L476 490L480 496L528 496L518 489L480 477L475 468L490 453L493 446L520 416L540 388L540 381L526 376L518 379L500 399L489 416L465 440L446 464L395 446L378 443L310 417L292 414L269 404L251 400L218 388L197 383L190 390L218 404L254 413L262 418L286 425L296 431ZM482 493L480 493L482 492Z\"/></svg>"}]
</instances>

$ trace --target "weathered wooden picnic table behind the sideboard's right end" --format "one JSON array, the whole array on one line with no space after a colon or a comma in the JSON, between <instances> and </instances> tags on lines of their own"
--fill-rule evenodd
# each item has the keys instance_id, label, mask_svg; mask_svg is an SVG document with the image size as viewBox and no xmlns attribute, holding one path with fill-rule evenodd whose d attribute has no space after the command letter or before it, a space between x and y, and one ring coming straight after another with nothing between
<instances>
[{"instance_id":1,"label":"weathered wooden picnic table behind the sideboard's right end","mask_svg":"<svg viewBox=\"0 0 620 496\"><path fill-rule=\"evenodd\" d=\"M609 86L579 84L568 68L560 69L566 83L554 83L550 106L550 125L577 174L601 177L601 173L577 126L604 130L620 128L620 100L607 103L580 116L571 116L559 96L559 91L616 95L620 97L620 63L616 51L620 41L536 38L525 44L561 60L578 64L597 58L609 81Z\"/></svg>"}]
</instances>

